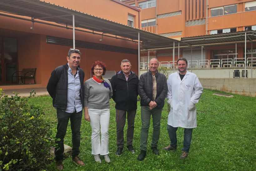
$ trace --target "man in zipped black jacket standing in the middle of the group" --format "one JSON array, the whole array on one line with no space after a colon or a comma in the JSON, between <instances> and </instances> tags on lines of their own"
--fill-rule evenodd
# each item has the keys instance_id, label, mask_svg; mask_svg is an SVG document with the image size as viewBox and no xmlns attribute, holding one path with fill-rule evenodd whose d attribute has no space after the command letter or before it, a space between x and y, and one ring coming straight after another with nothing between
<instances>
[{"instance_id":1,"label":"man in zipped black jacket standing in the middle of the group","mask_svg":"<svg viewBox=\"0 0 256 171\"><path fill-rule=\"evenodd\" d=\"M121 155L124 145L123 128L125 126L127 113L127 148L132 154L133 149L133 133L134 119L137 109L138 96L138 76L130 71L131 63L128 59L123 59L121 69L111 78L111 86L113 89L113 100L116 102L116 124L117 124L117 151L116 155Z\"/></svg>"}]
</instances>

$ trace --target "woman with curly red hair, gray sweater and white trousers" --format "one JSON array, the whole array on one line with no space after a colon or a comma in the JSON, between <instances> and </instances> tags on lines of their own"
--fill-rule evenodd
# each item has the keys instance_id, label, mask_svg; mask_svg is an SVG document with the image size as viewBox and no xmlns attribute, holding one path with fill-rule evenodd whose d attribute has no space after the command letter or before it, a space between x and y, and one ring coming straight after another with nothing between
<instances>
[{"instance_id":1,"label":"woman with curly red hair, gray sweater and white trousers","mask_svg":"<svg viewBox=\"0 0 256 171\"><path fill-rule=\"evenodd\" d=\"M91 68L93 78L86 80L84 83L84 119L90 121L92 127L92 154L95 161L99 163L101 163L99 155L104 155L105 161L110 162L108 156L109 99L112 97L113 91L108 79L104 79L102 76L105 72L106 65L101 61L95 61Z\"/></svg>"}]
</instances>

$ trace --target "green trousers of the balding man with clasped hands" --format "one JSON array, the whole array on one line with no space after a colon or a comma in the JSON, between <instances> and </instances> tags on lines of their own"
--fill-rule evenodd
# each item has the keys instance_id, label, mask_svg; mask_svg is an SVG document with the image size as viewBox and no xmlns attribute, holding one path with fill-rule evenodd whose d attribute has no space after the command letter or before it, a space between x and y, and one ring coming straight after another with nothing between
<instances>
[{"instance_id":1,"label":"green trousers of the balding man with clasped hands","mask_svg":"<svg viewBox=\"0 0 256 171\"><path fill-rule=\"evenodd\" d=\"M150 126L150 117L153 120L153 135L151 147L157 147L160 136L160 122L163 108L141 107L141 132L140 132L140 150L147 150L148 129Z\"/></svg>"}]
</instances>

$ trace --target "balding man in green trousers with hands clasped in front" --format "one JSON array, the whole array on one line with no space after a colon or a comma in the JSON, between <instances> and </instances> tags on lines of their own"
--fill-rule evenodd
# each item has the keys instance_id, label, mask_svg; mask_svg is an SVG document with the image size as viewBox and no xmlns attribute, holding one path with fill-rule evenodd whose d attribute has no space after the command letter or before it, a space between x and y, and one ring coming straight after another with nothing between
<instances>
[{"instance_id":1,"label":"balding man in green trousers with hands clasped in front","mask_svg":"<svg viewBox=\"0 0 256 171\"><path fill-rule=\"evenodd\" d=\"M148 64L149 71L140 76L138 92L141 105L141 133L140 133L140 154L138 160L142 161L146 156L148 129L150 117L153 119L153 135L151 149L154 154L159 154L157 144L160 135L160 121L164 106L164 99L168 87L164 74L158 72L158 59L152 58Z\"/></svg>"}]
</instances>

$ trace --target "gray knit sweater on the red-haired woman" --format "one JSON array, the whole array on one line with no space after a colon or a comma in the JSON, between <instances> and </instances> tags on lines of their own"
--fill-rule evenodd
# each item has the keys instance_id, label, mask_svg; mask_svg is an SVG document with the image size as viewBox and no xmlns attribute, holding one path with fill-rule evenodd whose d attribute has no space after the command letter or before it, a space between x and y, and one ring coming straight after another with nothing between
<instances>
[{"instance_id":1,"label":"gray knit sweater on the red-haired woman","mask_svg":"<svg viewBox=\"0 0 256 171\"><path fill-rule=\"evenodd\" d=\"M88 109L108 109L110 108L109 99L113 96L113 91L108 79L105 81L110 85L106 88L103 83L99 84L90 78L84 83L83 106Z\"/></svg>"}]
</instances>

